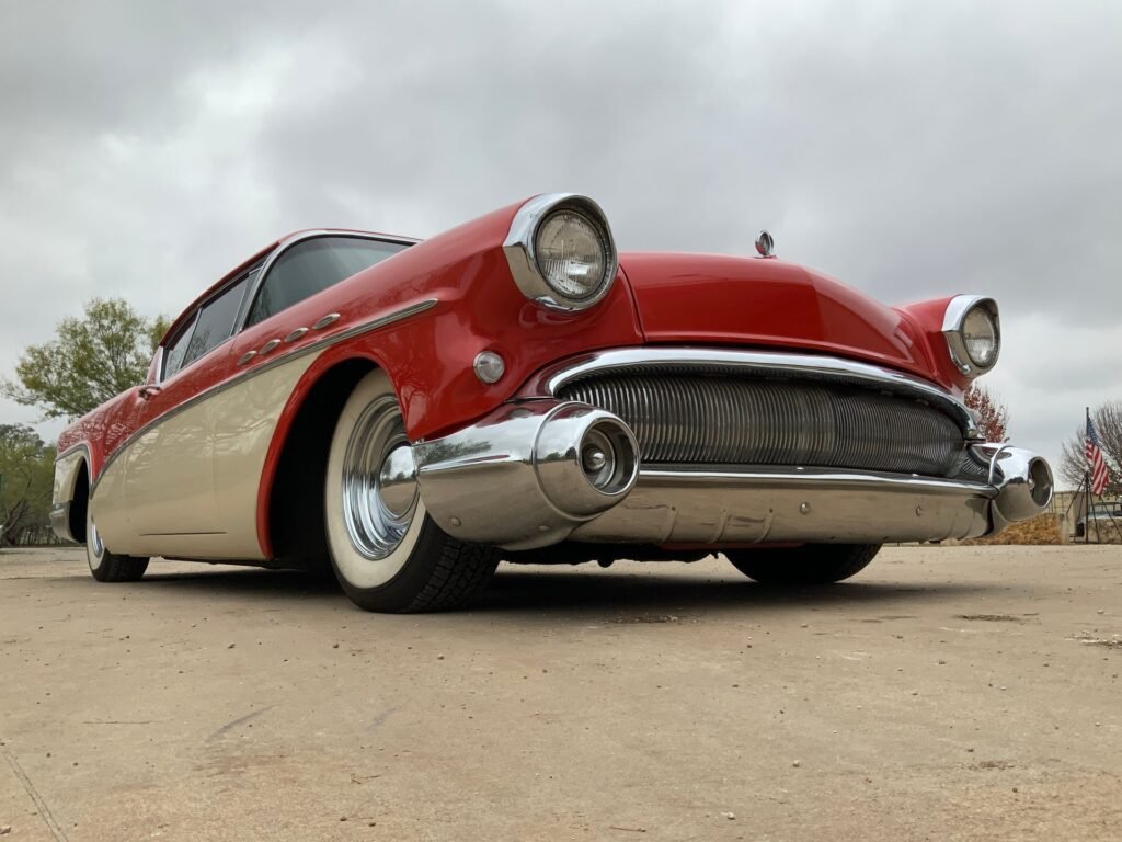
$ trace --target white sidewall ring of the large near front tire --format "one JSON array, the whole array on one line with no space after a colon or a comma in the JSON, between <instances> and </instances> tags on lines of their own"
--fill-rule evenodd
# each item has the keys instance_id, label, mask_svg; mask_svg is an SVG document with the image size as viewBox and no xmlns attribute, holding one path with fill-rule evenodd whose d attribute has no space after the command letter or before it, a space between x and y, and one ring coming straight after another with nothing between
<instances>
[{"instance_id":1,"label":"white sidewall ring of the large near front tire","mask_svg":"<svg viewBox=\"0 0 1122 842\"><path fill-rule=\"evenodd\" d=\"M426 519L424 502L417 497L413 521L402 537L401 543L381 559L370 559L356 549L347 531L343 512L342 475L355 425L362 411L378 397L393 395L394 388L383 372L366 375L351 392L343 411L335 423L328 457L327 487L324 488L328 547L335 564L335 570L348 585L355 588L377 588L392 582L408 564L421 540L421 531Z\"/></svg>"}]
</instances>

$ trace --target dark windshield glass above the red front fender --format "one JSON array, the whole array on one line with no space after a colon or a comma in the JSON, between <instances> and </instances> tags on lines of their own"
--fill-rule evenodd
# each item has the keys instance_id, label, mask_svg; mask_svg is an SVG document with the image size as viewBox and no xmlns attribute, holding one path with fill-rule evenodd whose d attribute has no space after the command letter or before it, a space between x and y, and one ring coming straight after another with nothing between
<instances>
[{"instance_id":1,"label":"dark windshield glass above the red front fender","mask_svg":"<svg viewBox=\"0 0 1122 842\"><path fill-rule=\"evenodd\" d=\"M408 248L358 237L318 237L297 242L273 264L254 300L246 327L327 290Z\"/></svg>"}]
</instances>

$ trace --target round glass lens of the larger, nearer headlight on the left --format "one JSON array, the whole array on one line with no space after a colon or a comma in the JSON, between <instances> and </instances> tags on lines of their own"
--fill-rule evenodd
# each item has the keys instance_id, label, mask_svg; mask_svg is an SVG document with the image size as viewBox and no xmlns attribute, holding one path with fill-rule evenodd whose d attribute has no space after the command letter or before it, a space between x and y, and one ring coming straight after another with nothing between
<instances>
[{"instance_id":1,"label":"round glass lens of the larger, nearer headlight on the left","mask_svg":"<svg viewBox=\"0 0 1122 842\"><path fill-rule=\"evenodd\" d=\"M605 277L607 241L591 220L573 210L559 210L542 220L534 255L545 283L572 301L591 298L610 280Z\"/></svg>"}]
</instances>

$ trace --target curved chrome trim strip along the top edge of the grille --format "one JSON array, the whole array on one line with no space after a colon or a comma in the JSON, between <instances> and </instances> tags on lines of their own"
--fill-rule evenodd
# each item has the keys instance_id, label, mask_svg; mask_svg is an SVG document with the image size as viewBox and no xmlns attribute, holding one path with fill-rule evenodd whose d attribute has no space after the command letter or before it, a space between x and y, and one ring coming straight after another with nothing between
<instances>
[{"instance_id":1,"label":"curved chrome trim strip along the top edge of the grille","mask_svg":"<svg viewBox=\"0 0 1122 842\"><path fill-rule=\"evenodd\" d=\"M531 384L544 394L557 395L567 383L592 374L616 369L643 369L675 366L720 368L763 374L795 374L812 379L847 378L867 386L888 388L942 406L957 419L967 439L981 438L971 411L939 386L903 372L858 363L842 357L787 354L783 351L742 351L724 348L616 348L595 351L544 369Z\"/></svg>"}]
</instances>

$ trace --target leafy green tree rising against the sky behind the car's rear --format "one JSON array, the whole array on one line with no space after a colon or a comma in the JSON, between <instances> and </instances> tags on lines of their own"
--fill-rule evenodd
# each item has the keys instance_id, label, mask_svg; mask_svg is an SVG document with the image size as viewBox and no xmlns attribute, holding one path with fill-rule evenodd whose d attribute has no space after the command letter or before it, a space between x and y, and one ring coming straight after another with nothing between
<instances>
[{"instance_id":1,"label":"leafy green tree rising against the sky behind the car's rear","mask_svg":"<svg viewBox=\"0 0 1122 842\"><path fill-rule=\"evenodd\" d=\"M166 330L166 319L146 319L122 299L94 299L83 318L63 319L52 341L28 346L17 379L0 392L47 418L79 418L144 383Z\"/></svg>"}]
</instances>

